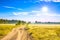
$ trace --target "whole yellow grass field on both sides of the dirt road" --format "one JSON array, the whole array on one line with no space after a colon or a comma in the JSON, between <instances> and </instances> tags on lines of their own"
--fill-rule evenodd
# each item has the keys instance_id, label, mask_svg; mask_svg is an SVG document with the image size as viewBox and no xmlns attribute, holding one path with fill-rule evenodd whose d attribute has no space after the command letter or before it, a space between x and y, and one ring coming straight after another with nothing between
<instances>
[{"instance_id":1,"label":"whole yellow grass field on both sides of the dirt road","mask_svg":"<svg viewBox=\"0 0 60 40\"><path fill-rule=\"evenodd\" d=\"M14 27L15 24L0 24L0 38ZM34 40L60 40L60 24L29 24L28 28Z\"/></svg>"}]
</instances>

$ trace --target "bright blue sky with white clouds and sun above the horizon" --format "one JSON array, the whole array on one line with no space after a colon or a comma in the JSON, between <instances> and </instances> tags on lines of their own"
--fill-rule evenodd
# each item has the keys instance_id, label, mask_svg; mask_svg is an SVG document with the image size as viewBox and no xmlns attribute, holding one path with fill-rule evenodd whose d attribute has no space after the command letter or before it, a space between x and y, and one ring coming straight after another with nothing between
<instances>
[{"instance_id":1,"label":"bright blue sky with white clouds and sun above the horizon","mask_svg":"<svg viewBox=\"0 0 60 40\"><path fill-rule=\"evenodd\" d=\"M60 22L60 1L0 0L0 19Z\"/></svg>"}]
</instances>

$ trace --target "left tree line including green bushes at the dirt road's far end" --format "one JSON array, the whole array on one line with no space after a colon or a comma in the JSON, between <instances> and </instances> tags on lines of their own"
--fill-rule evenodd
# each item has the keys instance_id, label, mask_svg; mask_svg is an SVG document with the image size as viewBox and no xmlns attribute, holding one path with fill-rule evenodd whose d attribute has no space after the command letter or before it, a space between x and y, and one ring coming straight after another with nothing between
<instances>
[{"instance_id":1,"label":"left tree line including green bushes at the dirt road's far end","mask_svg":"<svg viewBox=\"0 0 60 40\"><path fill-rule=\"evenodd\" d=\"M26 22L26 21L22 21L22 20L7 20L7 19L0 19L0 24L16 24L16 25L20 25L20 24L29 24L31 22Z\"/></svg>"}]
</instances>

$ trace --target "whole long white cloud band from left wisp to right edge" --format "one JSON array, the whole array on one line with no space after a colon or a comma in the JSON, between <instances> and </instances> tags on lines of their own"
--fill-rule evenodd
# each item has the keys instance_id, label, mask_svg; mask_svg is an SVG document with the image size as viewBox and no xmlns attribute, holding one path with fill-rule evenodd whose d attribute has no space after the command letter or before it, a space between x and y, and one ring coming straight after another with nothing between
<instances>
[{"instance_id":1,"label":"whole long white cloud band from left wisp to right edge","mask_svg":"<svg viewBox=\"0 0 60 40\"><path fill-rule=\"evenodd\" d=\"M29 15L32 13L31 15ZM43 13L41 11L31 11L31 12L13 12L14 15L28 15L28 16L35 16L35 17L41 17L41 16L60 16L60 14L57 13Z\"/></svg>"}]
</instances>

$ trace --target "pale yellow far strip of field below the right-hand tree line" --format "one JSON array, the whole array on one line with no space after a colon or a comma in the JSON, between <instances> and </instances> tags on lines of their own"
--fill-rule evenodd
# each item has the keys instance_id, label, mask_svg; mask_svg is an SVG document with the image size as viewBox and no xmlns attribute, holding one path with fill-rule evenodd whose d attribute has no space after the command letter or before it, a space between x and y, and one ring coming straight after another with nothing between
<instances>
[{"instance_id":1,"label":"pale yellow far strip of field below the right-hand tree line","mask_svg":"<svg viewBox=\"0 0 60 40\"><path fill-rule=\"evenodd\" d=\"M60 28L60 24L29 24L29 27Z\"/></svg>"}]
</instances>

